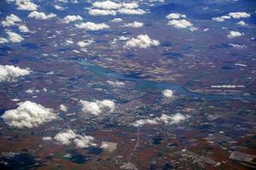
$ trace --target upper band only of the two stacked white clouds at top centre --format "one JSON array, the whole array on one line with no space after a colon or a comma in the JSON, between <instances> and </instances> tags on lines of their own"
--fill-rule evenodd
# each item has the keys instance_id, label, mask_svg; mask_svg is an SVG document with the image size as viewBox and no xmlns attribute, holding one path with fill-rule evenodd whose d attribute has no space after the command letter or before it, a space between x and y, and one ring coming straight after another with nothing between
<instances>
[{"instance_id":1,"label":"upper band only of the two stacked white clouds at top centre","mask_svg":"<svg viewBox=\"0 0 256 170\"><path fill-rule=\"evenodd\" d=\"M119 8L138 8L137 3L115 3L112 1L96 2L92 4L95 8L119 9Z\"/></svg>"}]
</instances>

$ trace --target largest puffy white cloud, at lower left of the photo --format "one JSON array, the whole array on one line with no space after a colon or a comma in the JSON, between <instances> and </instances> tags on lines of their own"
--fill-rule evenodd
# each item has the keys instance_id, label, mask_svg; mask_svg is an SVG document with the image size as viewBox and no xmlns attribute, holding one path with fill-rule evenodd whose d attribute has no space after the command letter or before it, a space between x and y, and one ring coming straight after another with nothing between
<instances>
[{"instance_id":1,"label":"largest puffy white cloud, at lower left of the photo","mask_svg":"<svg viewBox=\"0 0 256 170\"><path fill-rule=\"evenodd\" d=\"M57 118L57 115L52 109L46 108L43 105L25 101L18 104L16 109L5 111L3 121L11 127L37 127L44 122L50 122Z\"/></svg>"}]
</instances>

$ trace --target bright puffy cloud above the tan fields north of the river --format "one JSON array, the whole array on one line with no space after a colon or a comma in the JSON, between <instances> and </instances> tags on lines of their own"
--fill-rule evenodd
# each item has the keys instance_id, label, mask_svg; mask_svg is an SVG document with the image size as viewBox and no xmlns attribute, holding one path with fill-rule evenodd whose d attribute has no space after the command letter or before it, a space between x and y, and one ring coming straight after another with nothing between
<instances>
[{"instance_id":1,"label":"bright puffy cloud above the tan fields north of the river","mask_svg":"<svg viewBox=\"0 0 256 170\"><path fill-rule=\"evenodd\" d=\"M130 40L125 42L125 48L149 48L151 46L158 46L159 44L159 41L151 39L145 34L132 37Z\"/></svg>"}]
</instances>

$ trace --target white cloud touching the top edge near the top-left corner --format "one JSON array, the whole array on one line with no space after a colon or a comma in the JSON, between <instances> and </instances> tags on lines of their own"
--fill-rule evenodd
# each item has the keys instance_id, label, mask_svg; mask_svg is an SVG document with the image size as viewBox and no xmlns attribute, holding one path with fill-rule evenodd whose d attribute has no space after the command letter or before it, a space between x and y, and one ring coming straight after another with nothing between
<instances>
[{"instance_id":1,"label":"white cloud touching the top edge near the top-left corner","mask_svg":"<svg viewBox=\"0 0 256 170\"><path fill-rule=\"evenodd\" d=\"M8 3L15 3L19 10L37 10L38 5L32 3L31 0L6 0Z\"/></svg>"}]
</instances>

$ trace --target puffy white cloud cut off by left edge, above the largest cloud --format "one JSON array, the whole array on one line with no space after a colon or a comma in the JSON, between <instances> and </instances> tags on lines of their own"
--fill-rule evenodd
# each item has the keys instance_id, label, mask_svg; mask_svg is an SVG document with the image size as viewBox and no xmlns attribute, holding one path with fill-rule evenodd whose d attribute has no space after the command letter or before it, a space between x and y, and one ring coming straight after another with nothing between
<instances>
[{"instance_id":1,"label":"puffy white cloud cut off by left edge, above the largest cloud","mask_svg":"<svg viewBox=\"0 0 256 170\"><path fill-rule=\"evenodd\" d=\"M22 77L30 74L30 69L20 69L14 65L0 65L0 82L11 82L15 81L16 77Z\"/></svg>"}]
</instances>

